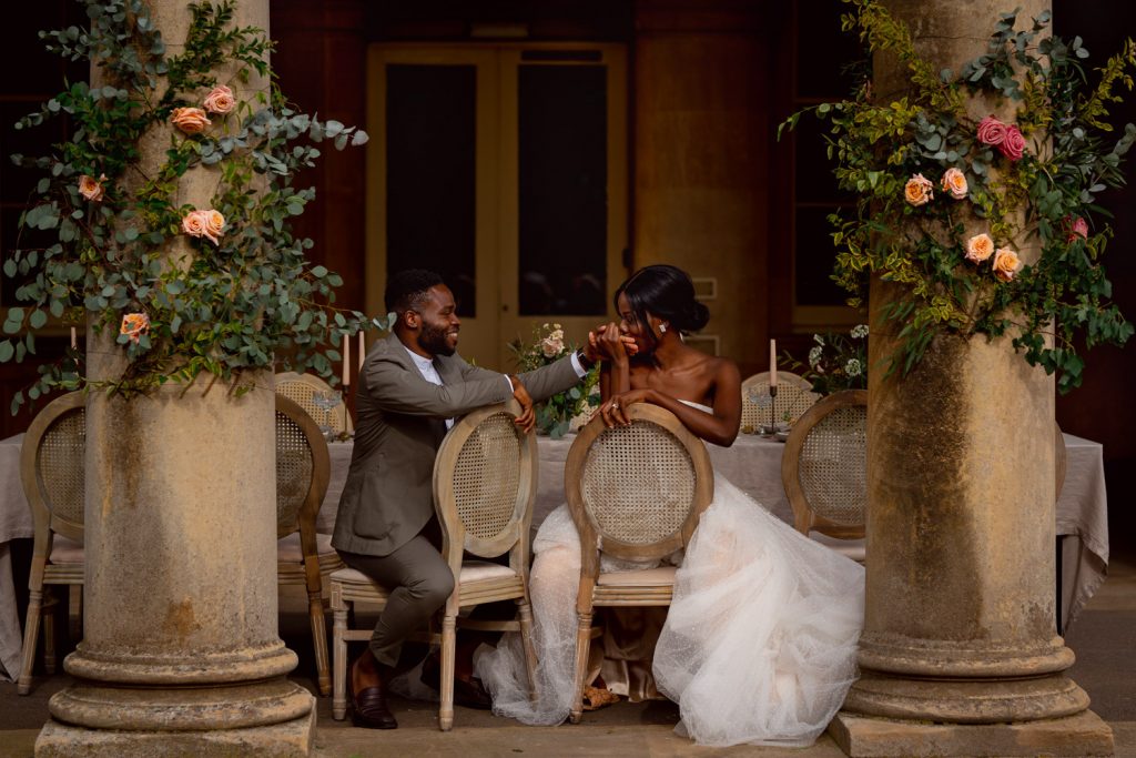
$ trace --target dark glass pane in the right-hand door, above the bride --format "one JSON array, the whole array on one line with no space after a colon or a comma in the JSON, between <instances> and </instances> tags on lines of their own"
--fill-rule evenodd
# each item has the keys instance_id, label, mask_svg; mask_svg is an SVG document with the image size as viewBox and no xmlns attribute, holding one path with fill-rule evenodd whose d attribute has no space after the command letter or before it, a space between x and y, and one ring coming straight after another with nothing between
<instances>
[{"instance_id":1,"label":"dark glass pane in the right-hand door, above the bride","mask_svg":"<svg viewBox=\"0 0 1136 758\"><path fill-rule=\"evenodd\" d=\"M607 313L607 103L603 66L518 68L521 316Z\"/></svg>"}]
</instances>

